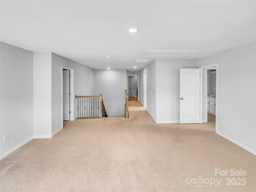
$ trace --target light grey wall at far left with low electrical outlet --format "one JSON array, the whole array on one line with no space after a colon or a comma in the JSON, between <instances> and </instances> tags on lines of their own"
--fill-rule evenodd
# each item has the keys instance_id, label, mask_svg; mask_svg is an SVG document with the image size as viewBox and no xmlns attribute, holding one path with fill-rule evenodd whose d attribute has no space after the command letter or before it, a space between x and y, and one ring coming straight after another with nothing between
<instances>
[{"instance_id":1,"label":"light grey wall at far left with low electrical outlet","mask_svg":"<svg viewBox=\"0 0 256 192\"><path fill-rule=\"evenodd\" d=\"M33 52L3 42L0 46L2 159L33 138Z\"/></svg>"}]
</instances>

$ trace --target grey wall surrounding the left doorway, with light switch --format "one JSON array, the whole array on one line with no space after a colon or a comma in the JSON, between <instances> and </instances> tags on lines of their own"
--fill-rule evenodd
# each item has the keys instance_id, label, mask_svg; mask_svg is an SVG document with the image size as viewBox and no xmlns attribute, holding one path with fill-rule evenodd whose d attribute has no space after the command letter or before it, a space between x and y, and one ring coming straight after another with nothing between
<instances>
[{"instance_id":1,"label":"grey wall surrounding the left doorway, with light switch","mask_svg":"<svg viewBox=\"0 0 256 192\"><path fill-rule=\"evenodd\" d=\"M52 134L58 132L58 130L62 128L61 66L66 66L74 69L75 95L79 96L94 94L94 74L92 68L52 53ZM56 99L54 99L54 94L56 95ZM74 113L76 117L76 99L74 99Z\"/></svg>"}]
</instances>

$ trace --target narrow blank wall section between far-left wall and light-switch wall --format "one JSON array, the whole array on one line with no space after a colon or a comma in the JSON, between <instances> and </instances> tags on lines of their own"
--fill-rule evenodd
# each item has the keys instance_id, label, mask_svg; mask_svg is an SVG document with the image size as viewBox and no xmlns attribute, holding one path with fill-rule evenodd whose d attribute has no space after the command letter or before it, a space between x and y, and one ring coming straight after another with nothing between
<instances>
[{"instance_id":1,"label":"narrow blank wall section between far-left wall and light-switch wall","mask_svg":"<svg viewBox=\"0 0 256 192\"><path fill-rule=\"evenodd\" d=\"M52 137L52 53L34 52L34 138Z\"/></svg>"}]
</instances>

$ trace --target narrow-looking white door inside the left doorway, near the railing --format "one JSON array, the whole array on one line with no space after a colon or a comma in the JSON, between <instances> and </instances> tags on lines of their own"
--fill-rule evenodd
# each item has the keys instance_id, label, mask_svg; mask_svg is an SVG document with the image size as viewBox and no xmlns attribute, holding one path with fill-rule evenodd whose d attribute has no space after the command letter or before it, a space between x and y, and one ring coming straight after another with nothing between
<instances>
[{"instance_id":1,"label":"narrow-looking white door inside the left doorway, near the railing","mask_svg":"<svg viewBox=\"0 0 256 192\"><path fill-rule=\"evenodd\" d=\"M63 80L63 87L62 87L62 91L63 91L63 120L64 121L69 121L70 120L70 96L69 96L69 70L63 70L63 76L62 76L62 80Z\"/></svg>"}]
</instances>

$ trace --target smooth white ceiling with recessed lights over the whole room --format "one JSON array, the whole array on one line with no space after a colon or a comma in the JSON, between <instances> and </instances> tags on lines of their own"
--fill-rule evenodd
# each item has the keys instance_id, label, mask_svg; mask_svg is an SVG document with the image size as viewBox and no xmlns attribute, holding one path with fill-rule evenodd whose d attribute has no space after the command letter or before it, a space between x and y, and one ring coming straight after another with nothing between
<instances>
[{"instance_id":1,"label":"smooth white ceiling with recessed lights over the whole room","mask_svg":"<svg viewBox=\"0 0 256 192\"><path fill-rule=\"evenodd\" d=\"M140 70L155 59L146 50L198 50L188 56L197 59L255 42L256 1L1 1L0 24L1 41L14 46Z\"/></svg>"}]
</instances>

